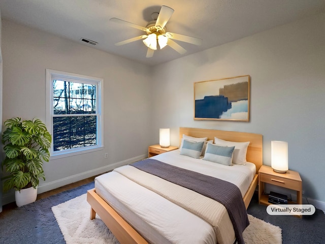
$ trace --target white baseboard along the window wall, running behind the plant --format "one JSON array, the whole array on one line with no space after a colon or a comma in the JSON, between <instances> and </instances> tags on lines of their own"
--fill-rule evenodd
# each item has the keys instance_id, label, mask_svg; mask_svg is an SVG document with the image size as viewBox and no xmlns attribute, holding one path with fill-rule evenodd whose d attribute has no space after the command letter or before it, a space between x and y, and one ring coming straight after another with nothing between
<instances>
[{"instance_id":1,"label":"white baseboard along the window wall, running behind the plant","mask_svg":"<svg viewBox=\"0 0 325 244\"><path fill-rule=\"evenodd\" d=\"M142 160L142 159L144 159L146 157L148 157L148 155L144 154L144 155L140 155L140 156L137 156L137 157L134 157L134 158L131 158L131 159L127 159L127 160L123 160L123 161L116 162L116 163L113 163L113 164L109 164L109 165L106 165L106 166L101 167L101 168L96 168L96 169L92 169L92 170L89 170L89 171L86 171L86 172L82 172L80 174L71 175L71 176L66 177L66 178L54 180L54 181L51 181L51 182L45 182L44 184L42 184L42 185L40 185L38 187L38 192L37 193L40 194L40 193L47 192L47 191L50 191L50 190L53 190L53 189L56 189L56 188L59 188L59 187L62 187L62 186L66 186L66 185L69 185L69 184L71 184L73 182L76 182L76 181L79 181L79 180L82 180L82 179L86 179L86 178L92 177L94 175L102 174L102 173L105 173L107 171L111 171L111 170L113 170L113 169L115 169L117 167L137 162L137 161ZM3 198L2 198L2 204L3 205L6 205L6 204L14 202L14 201L15 201L15 192L14 191L9 191L8 193L3 195Z\"/></svg>"}]
</instances>

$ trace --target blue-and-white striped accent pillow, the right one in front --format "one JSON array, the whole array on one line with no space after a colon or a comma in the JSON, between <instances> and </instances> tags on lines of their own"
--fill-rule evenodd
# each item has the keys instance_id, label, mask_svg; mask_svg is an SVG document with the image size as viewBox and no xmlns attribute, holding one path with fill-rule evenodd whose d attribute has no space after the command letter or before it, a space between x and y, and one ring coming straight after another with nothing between
<instances>
[{"instance_id":1,"label":"blue-and-white striped accent pillow, the right one in front","mask_svg":"<svg viewBox=\"0 0 325 244\"><path fill-rule=\"evenodd\" d=\"M208 143L203 160L231 166L235 146L218 146Z\"/></svg>"}]
</instances>

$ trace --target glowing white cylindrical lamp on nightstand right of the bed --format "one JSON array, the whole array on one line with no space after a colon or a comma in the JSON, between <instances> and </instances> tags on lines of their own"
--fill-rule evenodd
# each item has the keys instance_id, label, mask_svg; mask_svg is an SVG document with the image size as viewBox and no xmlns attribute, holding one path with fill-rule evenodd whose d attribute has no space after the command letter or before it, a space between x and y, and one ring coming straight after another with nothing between
<instances>
[{"instance_id":1,"label":"glowing white cylindrical lamp on nightstand right of the bed","mask_svg":"<svg viewBox=\"0 0 325 244\"><path fill-rule=\"evenodd\" d=\"M271 167L278 173L285 173L288 170L287 142L271 141Z\"/></svg>"}]
</instances>

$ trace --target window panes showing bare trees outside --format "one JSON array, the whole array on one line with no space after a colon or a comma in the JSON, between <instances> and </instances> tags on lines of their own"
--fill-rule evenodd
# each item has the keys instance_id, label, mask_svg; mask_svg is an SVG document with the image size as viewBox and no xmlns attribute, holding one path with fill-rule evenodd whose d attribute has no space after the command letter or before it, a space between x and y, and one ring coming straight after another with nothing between
<instances>
[{"instance_id":1,"label":"window panes showing bare trees outside","mask_svg":"<svg viewBox=\"0 0 325 244\"><path fill-rule=\"evenodd\" d=\"M97 144L96 85L53 79L53 150Z\"/></svg>"}]
</instances>

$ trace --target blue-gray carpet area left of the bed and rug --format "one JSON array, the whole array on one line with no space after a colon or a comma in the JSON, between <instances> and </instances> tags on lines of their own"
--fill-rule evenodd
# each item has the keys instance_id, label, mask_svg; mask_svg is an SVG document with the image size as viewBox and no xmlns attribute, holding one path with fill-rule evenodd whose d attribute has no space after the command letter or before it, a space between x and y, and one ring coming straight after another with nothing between
<instances>
[{"instance_id":1,"label":"blue-gray carpet area left of the bed and rug","mask_svg":"<svg viewBox=\"0 0 325 244\"><path fill-rule=\"evenodd\" d=\"M93 182L15 208L0 219L1 244L66 244L51 207L94 187Z\"/></svg>"}]
</instances>

